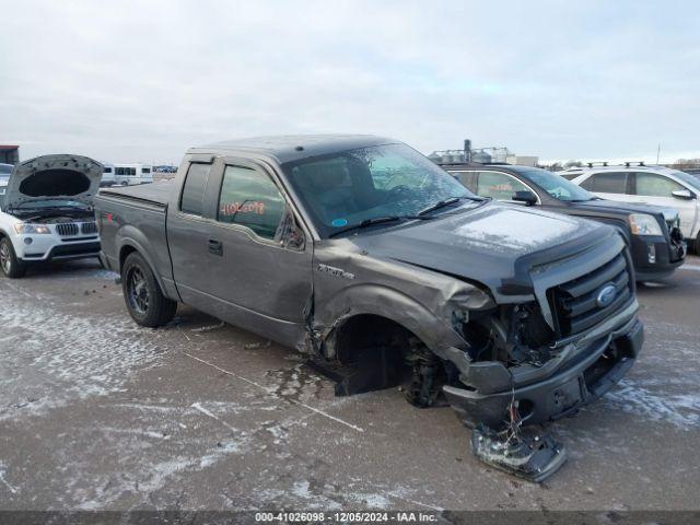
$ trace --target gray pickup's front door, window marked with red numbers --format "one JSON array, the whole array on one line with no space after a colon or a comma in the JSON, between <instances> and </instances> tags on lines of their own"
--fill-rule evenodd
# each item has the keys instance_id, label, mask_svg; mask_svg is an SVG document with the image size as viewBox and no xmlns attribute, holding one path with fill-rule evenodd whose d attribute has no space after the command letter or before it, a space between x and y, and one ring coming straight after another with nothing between
<instances>
[{"instance_id":1,"label":"gray pickup's front door, window marked with red numbers","mask_svg":"<svg viewBox=\"0 0 700 525\"><path fill-rule=\"evenodd\" d=\"M207 210L207 275L218 317L293 345L312 296L312 243L261 164L220 158Z\"/></svg>"}]
</instances>

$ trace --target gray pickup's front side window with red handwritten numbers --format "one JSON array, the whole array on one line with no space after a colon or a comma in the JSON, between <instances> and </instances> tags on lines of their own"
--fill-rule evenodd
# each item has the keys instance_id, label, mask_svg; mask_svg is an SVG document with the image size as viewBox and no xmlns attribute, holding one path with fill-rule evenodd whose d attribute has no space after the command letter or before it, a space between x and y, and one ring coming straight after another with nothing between
<instances>
[{"instance_id":1,"label":"gray pickup's front side window with red handwritten numbers","mask_svg":"<svg viewBox=\"0 0 700 525\"><path fill-rule=\"evenodd\" d=\"M217 220L249 228L262 238L275 238L284 214L284 198L266 174L226 166L221 183Z\"/></svg>"}]
</instances>

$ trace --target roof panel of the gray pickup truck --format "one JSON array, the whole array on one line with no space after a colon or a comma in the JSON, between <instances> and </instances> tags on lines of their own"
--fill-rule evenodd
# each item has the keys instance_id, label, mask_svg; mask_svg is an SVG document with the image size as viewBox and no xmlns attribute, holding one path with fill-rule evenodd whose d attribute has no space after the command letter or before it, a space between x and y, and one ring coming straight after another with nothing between
<instances>
[{"instance_id":1,"label":"roof panel of the gray pickup truck","mask_svg":"<svg viewBox=\"0 0 700 525\"><path fill-rule=\"evenodd\" d=\"M374 135L284 135L214 142L190 148L187 153L233 153L240 151L270 156L282 164L338 151L397 142L399 141Z\"/></svg>"}]
</instances>

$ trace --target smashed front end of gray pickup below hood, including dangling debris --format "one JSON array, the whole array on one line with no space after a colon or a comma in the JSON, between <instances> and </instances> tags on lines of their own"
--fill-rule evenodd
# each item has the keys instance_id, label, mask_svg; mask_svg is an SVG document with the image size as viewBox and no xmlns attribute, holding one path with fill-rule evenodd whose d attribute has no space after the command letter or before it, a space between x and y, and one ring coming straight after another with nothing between
<instances>
[{"instance_id":1,"label":"smashed front end of gray pickup below hood, including dangling debris","mask_svg":"<svg viewBox=\"0 0 700 525\"><path fill-rule=\"evenodd\" d=\"M539 481L565 451L535 425L603 395L642 346L627 248L596 235L526 254L498 285L387 259L361 237L320 247L315 362L339 395L401 386L418 407L448 404L480 459Z\"/></svg>"}]
</instances>

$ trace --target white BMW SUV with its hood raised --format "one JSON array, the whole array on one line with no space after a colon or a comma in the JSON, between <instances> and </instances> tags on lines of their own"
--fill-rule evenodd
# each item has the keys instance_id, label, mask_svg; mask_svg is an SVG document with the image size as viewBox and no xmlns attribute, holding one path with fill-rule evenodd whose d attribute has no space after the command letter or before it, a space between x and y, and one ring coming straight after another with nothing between
<instances>
[{"instance_id":1,"label":"white BMW SUV with its hood raised","mask_svg":"<svg viewBox=\"0 0 700 525\"><path fill-rule=\"evenodd\" d=\"M44 155L14 166L0 190L0 270L24 276L39 261L97 257L92 199L102 164L81 155Z\"/></svg>"}]
</instances>

